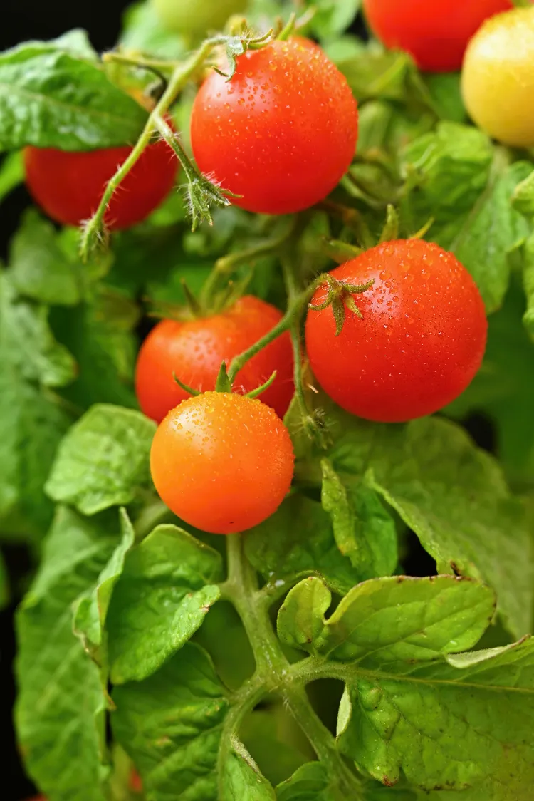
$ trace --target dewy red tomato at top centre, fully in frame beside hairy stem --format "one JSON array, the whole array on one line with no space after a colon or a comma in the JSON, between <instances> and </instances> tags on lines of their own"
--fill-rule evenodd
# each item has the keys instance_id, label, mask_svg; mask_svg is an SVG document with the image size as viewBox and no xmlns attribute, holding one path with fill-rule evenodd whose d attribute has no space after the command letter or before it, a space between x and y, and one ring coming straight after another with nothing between
<instances>
[{"instance_id":1,"label":"dewy red tomato at top centre, fully in frame beside hairy stem","mask_svg":"<svg viewBox=\"0 0 534 801\"><path fill-rule=\"evenodd\" d=\"M247 50L227 81L212 71L191 114L199 169L248 211L288 214L339 183L355 153L358 111L346 79L313 42Z\"/></svg>"}]
</instances>

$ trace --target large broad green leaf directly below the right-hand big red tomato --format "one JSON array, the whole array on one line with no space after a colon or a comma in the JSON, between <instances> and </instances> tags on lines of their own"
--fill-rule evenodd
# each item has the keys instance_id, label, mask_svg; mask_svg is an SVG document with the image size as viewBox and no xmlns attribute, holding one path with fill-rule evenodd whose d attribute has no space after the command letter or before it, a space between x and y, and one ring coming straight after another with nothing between
<instances>
[{"instance_id":1,"label":"large broad green leaf directly below the right-hand big red tomato","mask_svg":"<svg viewBox=\"0 0 534 801\"><path fill-rule=\"evenodd\" d=\"M344 483L365 476L416 532L440 573L481 578L496 591L512 634L528 632L534 586L530 535L524 507L509 492L496 461L459 426L437 417L379 425L325 405L335 441L320 457L329 458ZM295 477L319 485L319 454L297 461Z\"/></svg>"}]
</instances>

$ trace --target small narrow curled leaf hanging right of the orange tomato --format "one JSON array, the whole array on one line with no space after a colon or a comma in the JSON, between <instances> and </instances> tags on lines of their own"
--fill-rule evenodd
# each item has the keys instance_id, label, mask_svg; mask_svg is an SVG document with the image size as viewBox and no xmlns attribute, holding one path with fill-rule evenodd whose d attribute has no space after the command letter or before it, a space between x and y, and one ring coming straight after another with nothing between
<instances>
[{"instance_id":1,"label":"small narrow curled leaf hanging right of the orange tomato","mask_svg":"<svg viewBox=\"0 0 534 801\"><path fill-rule=\"evenodd\" d=\"M397 565L397 537L390 513L373 489L347 486L327 459L321 461L321 502L332 521L335 541L361 578L386 576Z\"/></svg>"}]
</instances>

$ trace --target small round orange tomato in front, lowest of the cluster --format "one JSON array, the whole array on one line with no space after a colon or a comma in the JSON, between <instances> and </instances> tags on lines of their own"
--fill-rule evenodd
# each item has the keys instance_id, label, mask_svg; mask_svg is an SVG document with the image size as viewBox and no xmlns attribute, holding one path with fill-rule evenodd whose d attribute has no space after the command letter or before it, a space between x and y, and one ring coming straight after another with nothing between
<instances>
[{"instance_id":1,"label":"small round orange tomato in front, lowest of the cluster","mask_svg":"<svg viewBox=\"0 0 534 801\"><path fill-rule=\"evenodd\" d=\"M197 529L245 531L269 517L293 477L286 427L261 400L205 392L159 425L151 472L164 503Z\"/></svg>"}]
</instances>

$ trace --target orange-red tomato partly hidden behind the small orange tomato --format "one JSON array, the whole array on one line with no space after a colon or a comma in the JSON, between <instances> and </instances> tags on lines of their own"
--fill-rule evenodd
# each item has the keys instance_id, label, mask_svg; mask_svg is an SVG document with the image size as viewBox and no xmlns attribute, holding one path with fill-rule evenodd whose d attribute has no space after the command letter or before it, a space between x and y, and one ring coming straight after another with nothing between
<instances>
[{"instance_id":1,"label":"orange-red tomato partly hidden behind the small orange tomato","mask_svg":"<svg viewBox=\"0 0 534 801\"><path fill-rule=\"evenodd\" d=\"M173 372L194 389L215 389L221 363L226 361L229 365L234 356L274 328L281 317L271 304L246 296L211 317L186 323L162 320L143 342L137 361L135 388L143 412L159 423L169 409L189 397L176 384ZM234 388L243 394L251 392L275 370L275 381L261 398L283 417L294 390L293 355L287 332L245 364Z\"/></svg>"}]
</instances>

